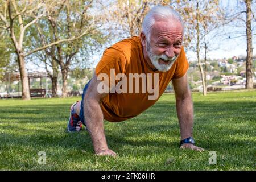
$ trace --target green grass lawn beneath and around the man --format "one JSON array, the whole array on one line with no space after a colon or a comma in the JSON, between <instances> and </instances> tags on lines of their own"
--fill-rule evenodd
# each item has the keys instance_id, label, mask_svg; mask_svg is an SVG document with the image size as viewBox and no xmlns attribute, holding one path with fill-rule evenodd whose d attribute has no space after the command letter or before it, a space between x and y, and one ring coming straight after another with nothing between
<instances>
[{"instance_id":1,"label":"green grass lawn beneath and around the man","mask_svg":"<svg viewBox=\"0 0 256 182\"><path fill-rule=\"evenodd\" d=\"M194 137L204 152L179 149L174 94L136 118L105 122L117 158L95 156L89 134L67 133L69 107L80 100L0 100L2 170L255 170L256 90L193 94ZM39 165L38 152L46 152ZM209 151L217 164L209 165Z\"/></svg>"}]
</instances>

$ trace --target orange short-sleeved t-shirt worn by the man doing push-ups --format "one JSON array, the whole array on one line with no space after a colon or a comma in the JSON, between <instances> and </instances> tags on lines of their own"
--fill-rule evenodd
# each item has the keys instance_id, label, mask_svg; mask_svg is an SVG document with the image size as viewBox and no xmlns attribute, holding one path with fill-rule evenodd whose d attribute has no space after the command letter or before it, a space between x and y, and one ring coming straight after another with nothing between
<instances>
[{"instance_id":1,"label":"orange short-sleeved t-shirt worn by the man doing push-ups","mask_svg":"<svg viewBox=\"0 0 256 182\"><path fill-rule=\"evenodd\" d=\"M141 73L145 73L146 75L152 73L152 89L154 89L154 73L158 73L159 94L156 99L149 100L148 96L152 95L152 92L144 93L141 92L141 89L139 93L109 93L101 102L104 119L111 122L119 122L141 114L158 101L172 78L182 77L187 72L188 67L188 61L184 48L182 47L179 57L177 57L177 60L169 71L153 71L144 59L143 46L138 36L122 40L107 48L100 62L97 64L97 76L100 73L106 73L110 78L110 69L114 69L115 75L123 73L127 78L129 77L129 73L138 73L139 75ZM116 85L117 83L118 81L114 80L114 84ZM141 83L142 81L140 81Z\"/></svg>"}]
</instances>

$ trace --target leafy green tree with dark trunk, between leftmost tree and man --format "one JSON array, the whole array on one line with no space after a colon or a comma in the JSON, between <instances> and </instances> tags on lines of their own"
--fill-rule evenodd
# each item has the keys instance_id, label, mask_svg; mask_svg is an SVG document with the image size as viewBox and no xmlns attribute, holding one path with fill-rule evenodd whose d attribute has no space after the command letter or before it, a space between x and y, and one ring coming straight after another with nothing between
<instances>
[{"instance_id":1,"label":"leafy green tree with dark trunk, between leftmost tree and man","mask_svg":"<svg viewBox=\"0 0 256 182\"><path fill-rule=\"evenodd\" d=\"M41 26L36 26L43 47L52 40L66 40L44 49L51 59L51 65L56 62L60 66L63 97L67 97L67 78L72 61L81 59L80 56L90 49L90 45L93 44L93 48L96 48L99 43L104 42L104 37L98 31L102 25L99 22L101 16L96 18L88 12L92 8L92 3L93 1L84 0L64 2L55 8L55 14L48 15L42 20ZM72 39L74 36L77 38Z\"/></svg>"}]
</instances>

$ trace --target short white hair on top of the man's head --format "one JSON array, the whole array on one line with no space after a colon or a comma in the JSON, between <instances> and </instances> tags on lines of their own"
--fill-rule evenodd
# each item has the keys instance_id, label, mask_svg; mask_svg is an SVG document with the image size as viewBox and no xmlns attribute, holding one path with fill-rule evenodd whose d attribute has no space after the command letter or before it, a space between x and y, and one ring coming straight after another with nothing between
<instances>
[{"instance_id":1,"label":"short white hair on top of the man's head","mask_svg":"<svg viewBox=\"0 0 256 182\"><path fill-rule=\"evenodd\" d=\"M171 9L170 7L159 5L159 6L153 7L150 11L148 11L142 23L142 31L144 32L148 40L150 40L152 26L159 19L160 20L170 20L170 19L179 20L179 22L183 27L183 34L184 34L184 23L179 13L177 13L177 11L175 11L174 9Z\"/></svg>"}]
</instances>

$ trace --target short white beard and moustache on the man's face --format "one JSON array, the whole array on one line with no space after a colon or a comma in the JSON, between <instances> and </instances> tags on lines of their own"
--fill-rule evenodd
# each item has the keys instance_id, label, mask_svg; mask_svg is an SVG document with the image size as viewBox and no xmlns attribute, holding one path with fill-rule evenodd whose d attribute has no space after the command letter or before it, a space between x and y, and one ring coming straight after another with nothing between
<instances>
[{"instance_id":1,"label":"short white beard and moustache on the man's face","mask_svg":"<svg viewBox=\"0 0 256 182\"><path fill-rule=\"evenodd\" d=\"M148 57L150 58L152 64L154 65L154 67L156 69L158 69L158 71L160 72L166 72L168 71L169 69L171 69L172 65L174 64L174 62L176 61L177 57L178 56L175 56L172 57L172 58L169 58L167 57L166 55L162 54L162 55L155 55L153 52L152 52L152 49L150 47L150 43L147 41L146 42L146 51L147 51L147 55ZM164 59L166 61L170 61L170 63L168 64L160 64L159 63L159 59Z\"/></svg>"}]
</instances>

